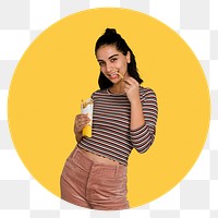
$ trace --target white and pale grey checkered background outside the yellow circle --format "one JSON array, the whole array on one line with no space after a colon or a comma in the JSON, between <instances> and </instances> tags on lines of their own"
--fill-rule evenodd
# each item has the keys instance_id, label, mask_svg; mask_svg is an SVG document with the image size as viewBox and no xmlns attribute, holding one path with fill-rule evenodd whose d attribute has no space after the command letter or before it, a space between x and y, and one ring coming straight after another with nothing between
<instances>
[{"instance_id":1,"label":"white and pale grey checkered background outside the yellow circle","mask_svg":"<svg viewBox=\"0 0 218 218\"><path fill-rule=\"evenodd\" d=\"M99 7L150 14L179 33L198 58L211 98L209 134L190 173L158 199L122 211L80 208L45 190L17 157L7 121L10 81L32 40L60 19ZM1 217L218 218L218 0L0 0Z\"/></svg>"}]
</instances>

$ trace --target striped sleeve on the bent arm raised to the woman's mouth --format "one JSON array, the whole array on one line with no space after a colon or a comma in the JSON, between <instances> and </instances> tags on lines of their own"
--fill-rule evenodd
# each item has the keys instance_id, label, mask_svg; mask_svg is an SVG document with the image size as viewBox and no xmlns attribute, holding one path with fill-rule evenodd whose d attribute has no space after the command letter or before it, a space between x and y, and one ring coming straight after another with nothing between
<instances>
[{"instance_id":1,"label":"striped sleeve on the bent arm raised to the woman's mouth","mask_svg":"<svg viewBox=\"0 0 218 218\"><path fill-rule=\"evenodd\" d=\"M155 141L156 122L158 114L157 98L153 89L147 89L142 98L143 113L145 123L130 131L132 146L138 153L145 153Z\"/></svg>"}]
</instances>

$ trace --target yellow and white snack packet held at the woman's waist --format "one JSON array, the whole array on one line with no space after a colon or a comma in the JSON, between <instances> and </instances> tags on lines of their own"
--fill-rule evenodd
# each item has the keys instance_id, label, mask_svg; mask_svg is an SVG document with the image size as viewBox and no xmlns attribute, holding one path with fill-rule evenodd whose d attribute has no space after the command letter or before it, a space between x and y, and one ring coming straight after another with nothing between
<instances>
[{"instance_id":1,"label":"yellow and white snack packet held at the woman's waist","mask_svg":"<svg viewBox=\"0 0 218 218\"><path fill-rule=\"evenodd\" d=\"M87 114L90 119L89 123L85 125L83 129L83 136L92 137L92 125L93 125L93 106L94 101L92 98L88 98L86 100L82 100L81 104L81 113Z\"/></svg>"}]
</instances>

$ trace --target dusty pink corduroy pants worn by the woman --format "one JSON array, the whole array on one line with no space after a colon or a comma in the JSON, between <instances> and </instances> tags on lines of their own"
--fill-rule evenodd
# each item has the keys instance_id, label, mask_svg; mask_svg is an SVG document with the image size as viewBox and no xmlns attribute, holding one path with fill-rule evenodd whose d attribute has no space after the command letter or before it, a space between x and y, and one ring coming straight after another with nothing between
<instances>
[{"instance_id":1,"label":"dusty pink corduroy pants worn by the woman","mask_svg":"<svg viewBox=\"0 0 218 218\"><path fill-rule=\"evenodd\" d=\"M61 174L61 198L74 205L99 210L129 208L126 167L102 165L75 147Z\"/></svg>"}]
</instances>

